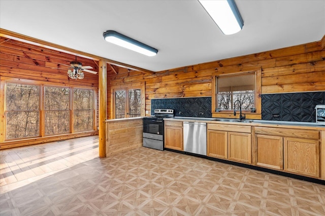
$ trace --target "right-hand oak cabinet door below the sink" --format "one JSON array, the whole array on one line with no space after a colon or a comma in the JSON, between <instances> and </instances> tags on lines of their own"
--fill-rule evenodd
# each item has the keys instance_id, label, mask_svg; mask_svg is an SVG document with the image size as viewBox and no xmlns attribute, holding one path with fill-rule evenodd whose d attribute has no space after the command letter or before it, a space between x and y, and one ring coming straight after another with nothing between
<instances>
[{"instance_id":1,"label":"right-hand oak cabinet door below the sink","mask_svg":"<svg viewBox=\"0 0 325 216\"><path fill-rule=\"evenodd\" d=\"M228 159L251 163L251 134L228 132Z\"/></svg>"}]
</instances>

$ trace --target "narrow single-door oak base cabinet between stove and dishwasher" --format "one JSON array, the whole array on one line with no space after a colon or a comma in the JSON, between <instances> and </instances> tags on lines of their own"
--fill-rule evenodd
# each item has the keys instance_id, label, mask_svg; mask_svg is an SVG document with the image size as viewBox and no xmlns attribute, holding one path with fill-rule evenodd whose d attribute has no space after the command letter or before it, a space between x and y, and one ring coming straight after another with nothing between
<instances>
[{"instance_id":1,"label":"narrow single-door oak base cabinet between stove and dishwasher","mask_svg":"<svg viewBox=\"0 0 325 216\"><path fill-rule=\"evenodd\" d=\"M183 151L183 122L165 120L165 148Z\"/></svg>"}]
</instances>

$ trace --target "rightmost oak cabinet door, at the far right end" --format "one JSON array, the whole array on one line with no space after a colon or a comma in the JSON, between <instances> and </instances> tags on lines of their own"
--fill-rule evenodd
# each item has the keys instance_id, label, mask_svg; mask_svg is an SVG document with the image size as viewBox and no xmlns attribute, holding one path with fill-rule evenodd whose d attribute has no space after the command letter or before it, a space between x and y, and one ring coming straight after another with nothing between
<instances>
[{"instance_id":1,"label":"rightmost oak cabinet door, at the far right end","mask_svg":"<svg viewBox=\"0 0 325 216\"><path fill-rule=\"evenodd\" d=\"M319 177L319 142L284 138L284 170Z\"/></svg>"}]
</instances>

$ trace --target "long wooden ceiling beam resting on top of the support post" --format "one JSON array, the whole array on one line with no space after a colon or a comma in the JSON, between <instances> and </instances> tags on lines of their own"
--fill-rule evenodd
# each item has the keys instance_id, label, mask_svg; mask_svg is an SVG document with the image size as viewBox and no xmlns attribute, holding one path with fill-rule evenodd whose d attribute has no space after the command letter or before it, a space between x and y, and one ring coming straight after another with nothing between
<instances>
[{"instance_id":1,"label":"long wooden ceiling beam resting on top of the support post","mask_svg":"<svg viewBox=\"0 0 325 216\"><path fill-rule=\"evenodd\" d=\"M108 62L110 64L114 64L114 65L119 66L119 67L126 67L126 68L129 68L129 69L132 69L132 70L141 70L141 71L148 72L148 73L154 73L151 70L147 70L147 69L143 69L143 68L136 67L136 66L133 66L133 65L117 62L117 61L114 61L114 60L111 60L111 59L106 59L106 58L103 58L103 57L100 57L100 56L92 55L92 54L85 53L85 52L75 50L75 49L71 49L71 48L68 48L68 47L63 47L63 46L60 46L60 45L53 44L51 42L47 42L47 41L40 40L40 39L37 39L37 38L34 38L34 37L29 37L29 36L26 36L26 35L23 35L23 34L15 33L15 32L3 29L3 28L0 28L0 36L7 37L7 38L10 38L10 39L19 40L19 41L22 41L22 42L26 42L27 44L37 45L37 46L40 46L40 47L60 51L60 52L63 52L63 53L69 53L69 54L84 57L84 58L87 58L87 59L92 59L92 60L96 60L96 61L104 60L104 61L106 61L106 62Z\"/></svg>"}]
</instances>

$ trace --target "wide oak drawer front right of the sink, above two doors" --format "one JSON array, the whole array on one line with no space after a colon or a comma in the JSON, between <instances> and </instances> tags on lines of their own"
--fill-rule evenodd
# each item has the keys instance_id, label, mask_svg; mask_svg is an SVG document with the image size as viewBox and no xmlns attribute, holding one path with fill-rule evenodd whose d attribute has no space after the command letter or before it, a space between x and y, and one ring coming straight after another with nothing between
<instances>
[{"instance_id":1,"label":"wide oak drawer front right of the sink, above two doors","mask_svg":"<svg viewBox=\"0 0 325 216\"><path fill-rule=\"evenodd\" d=\"M319 131L307 130L307 129L286 129L278 127L255 127L255 134L294 137L294 138L306 138L306 139L319 139Z\"/></svg>"}]
</instances>

